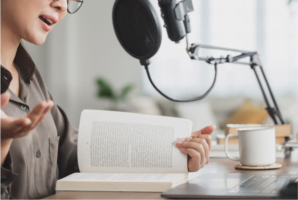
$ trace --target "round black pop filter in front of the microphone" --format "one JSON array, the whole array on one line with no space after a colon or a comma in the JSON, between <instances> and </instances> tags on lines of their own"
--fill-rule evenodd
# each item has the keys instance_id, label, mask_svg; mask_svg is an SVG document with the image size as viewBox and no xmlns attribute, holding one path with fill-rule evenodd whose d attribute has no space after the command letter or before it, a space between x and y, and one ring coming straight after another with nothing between
<instances>
[{"instance_id":1,"label":"round black pop filter in front of the microphone","mask_svg":"<svg viewBox=\"0 0 298 200\"><path fill-rule=\"evenodd\" d=\"M161 27L149 0L116 0L113 7L116 36L127 53L149 65L161 43Z\"/></svg>"}]
</instances>

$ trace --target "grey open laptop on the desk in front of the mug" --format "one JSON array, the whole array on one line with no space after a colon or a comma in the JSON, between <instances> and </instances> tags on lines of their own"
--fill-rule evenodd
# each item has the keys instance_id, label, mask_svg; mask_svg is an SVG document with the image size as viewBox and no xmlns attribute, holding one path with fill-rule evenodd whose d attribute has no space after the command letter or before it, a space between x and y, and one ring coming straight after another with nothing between
<instances>
[{"instance_id":1,"label":"grey open laptop on the desk in front of the mug","mask_svg":"<svg viewBox=\"0 0 298 200\"><path fill-rule=\"evenodd\" d=\"M280 196L280 190L285 185L296 185L297 180L297 174L202 174L162 192L161 196L187 199L297 199L297 190L294 196Z\"/></svg>"}]
</instances>

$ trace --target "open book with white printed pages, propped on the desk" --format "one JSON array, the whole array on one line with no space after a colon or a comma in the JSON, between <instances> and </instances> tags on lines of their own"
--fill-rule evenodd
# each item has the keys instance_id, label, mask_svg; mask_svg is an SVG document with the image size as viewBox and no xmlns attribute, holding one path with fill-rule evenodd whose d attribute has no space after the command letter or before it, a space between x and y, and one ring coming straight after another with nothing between
<instances>
[{"instance_id":1,"label":"open book with white printed pages, propped on the desk","mask_svg":"<svg viewBox=\"0 0 298 200\"><path fill-rule=\"evenodd\" d=\"M80 173L56 190L165 191L187 181L187 155L174 145L192 121L116 111L83 110L77 157Z\"/></svg>"}]
</instances>

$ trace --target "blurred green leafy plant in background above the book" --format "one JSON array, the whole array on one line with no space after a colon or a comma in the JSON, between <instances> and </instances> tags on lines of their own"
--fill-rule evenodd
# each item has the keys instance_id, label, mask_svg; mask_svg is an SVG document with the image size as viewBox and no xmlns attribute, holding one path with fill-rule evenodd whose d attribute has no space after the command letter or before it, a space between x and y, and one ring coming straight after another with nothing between
<instances>
[{"instance_id":1,"label":"blurred green leafy plant in background above the book","mask_svg":"<svg viewBox=\"0 0 298 200\"><path fill-rule=\"evenodd\" d=\"M112 85L104 78L99 77L96 79L97 85L97 97L99 98L108 98L113 102L125 101L127 95L134 88L133 84L127 84L120 89L119 92L116 92Z\"/></svg>"}]
</instances>

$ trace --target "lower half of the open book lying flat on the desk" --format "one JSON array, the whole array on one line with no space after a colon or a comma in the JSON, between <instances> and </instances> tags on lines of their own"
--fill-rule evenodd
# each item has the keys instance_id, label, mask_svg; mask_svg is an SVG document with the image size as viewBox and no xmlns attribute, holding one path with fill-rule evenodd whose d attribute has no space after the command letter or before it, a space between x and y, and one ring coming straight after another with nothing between
<instances>
[{"instance_id":1,"label":"lower half of the open book lying flat on the desk","mask_svg":"<svg viewBox=\"0 0 298 200\"><path fill-rule=\"evenodd\" d=\"M57 191L162 192L187 182L188 173L73 173L56 183Z\"/></svg>"}]
</instances>

